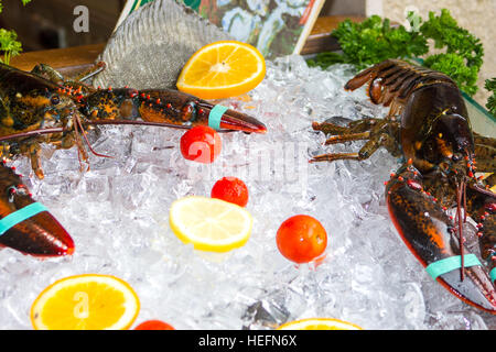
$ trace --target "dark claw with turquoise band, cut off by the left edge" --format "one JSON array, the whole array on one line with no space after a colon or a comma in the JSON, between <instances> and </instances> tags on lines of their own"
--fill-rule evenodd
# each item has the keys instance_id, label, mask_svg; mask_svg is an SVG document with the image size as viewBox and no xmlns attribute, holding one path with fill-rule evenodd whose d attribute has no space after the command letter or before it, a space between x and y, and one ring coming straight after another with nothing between
<instances>
[{"instance_id":1,"label":"dark claw with turquoise band, cut off by the left edge","mask_svg":"<svg viewBox=\"0 0 496 352\"><path fill-rule=\"evenodd\" d=\"M74 241L41 204L34 201L19 176L0 167L0 245L40 257L71 255Z\"/></svg>"}]
</instances>

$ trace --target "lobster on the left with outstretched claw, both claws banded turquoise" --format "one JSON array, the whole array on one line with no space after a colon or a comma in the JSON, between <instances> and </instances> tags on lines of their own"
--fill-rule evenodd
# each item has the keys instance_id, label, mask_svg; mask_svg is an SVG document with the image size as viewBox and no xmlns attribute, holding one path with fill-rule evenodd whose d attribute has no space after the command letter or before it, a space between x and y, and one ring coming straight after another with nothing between
<instances>
[{"instance_id":1,"label":"lobster on the left with outstretched claw, both claws banded turquoise","mask_svg":"<svg viewBox=\"0 0 496 352\"><path fill-rule=\"evenodd\" d=\"M180 91L100 89L84 82L103 69L105 64L97 63L87 73L66 79L44 64L32 72L0 64L0 245L40 257L74 253L67 231L32 198L14 167L7 166L12 157L26 155L42 179L41 143L76 146L83 166L87 148L106 156L95 152L86 136L98 124L179 129L209 124L222 131L266 132L263 123L252 117Z\"/></svg>"}]
</instances>

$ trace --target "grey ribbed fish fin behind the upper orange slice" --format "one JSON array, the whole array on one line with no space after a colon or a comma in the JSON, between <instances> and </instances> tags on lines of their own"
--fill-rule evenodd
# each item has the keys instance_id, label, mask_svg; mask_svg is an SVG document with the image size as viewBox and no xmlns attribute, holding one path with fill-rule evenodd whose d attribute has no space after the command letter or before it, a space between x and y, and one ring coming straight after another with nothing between
<instances>
[{"instance_id":1,"label":"grey ribbed fish fin behind the upper orange slice","mask_svg":"<svg viewBox=\"0 0 496 352\"><path fill-rule=\"evenodd\" d=\"M94 87L176 89L177 77L201 47L233 40L175 0L155 0L133 11L112 33L97 62L106 63Z\"/></svg>"}]
</instances>

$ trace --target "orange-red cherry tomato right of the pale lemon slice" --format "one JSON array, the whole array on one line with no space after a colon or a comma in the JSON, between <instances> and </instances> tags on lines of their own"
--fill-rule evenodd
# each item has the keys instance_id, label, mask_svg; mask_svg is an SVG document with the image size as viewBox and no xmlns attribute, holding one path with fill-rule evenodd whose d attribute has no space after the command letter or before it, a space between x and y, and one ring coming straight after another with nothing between
<instances>
[{"instance_id":1,"label":"orange-red cherry tomato right of the pale lemon slice","mask_svg":"<svg viewBox=\"0 0 496 352\"><path fill-rule=\"evenodd\" d=\"M327 233L319 220L299 215L287 219L276 235L279 252L294 263L317 258L327 246Z\"/></svg>"}]
</instances>

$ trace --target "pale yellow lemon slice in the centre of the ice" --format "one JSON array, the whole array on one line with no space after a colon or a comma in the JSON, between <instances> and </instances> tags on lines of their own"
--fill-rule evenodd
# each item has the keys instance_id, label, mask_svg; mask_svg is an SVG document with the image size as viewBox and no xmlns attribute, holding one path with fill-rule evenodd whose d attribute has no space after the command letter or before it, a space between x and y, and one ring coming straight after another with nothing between
<instances>
[{"instance_id":1,"label":"pale yellow lemon slice in the centre of the ice","mask_svg":"<svg viewBox=\"0 0 496 352\"><path fill-rule=\"evenodd\" d=\"M245 245L251 233L251 215L216 198L191 196L174 201L169 223L174 234L195 250L227 252Z\"/></svg>"}]
</instances>

